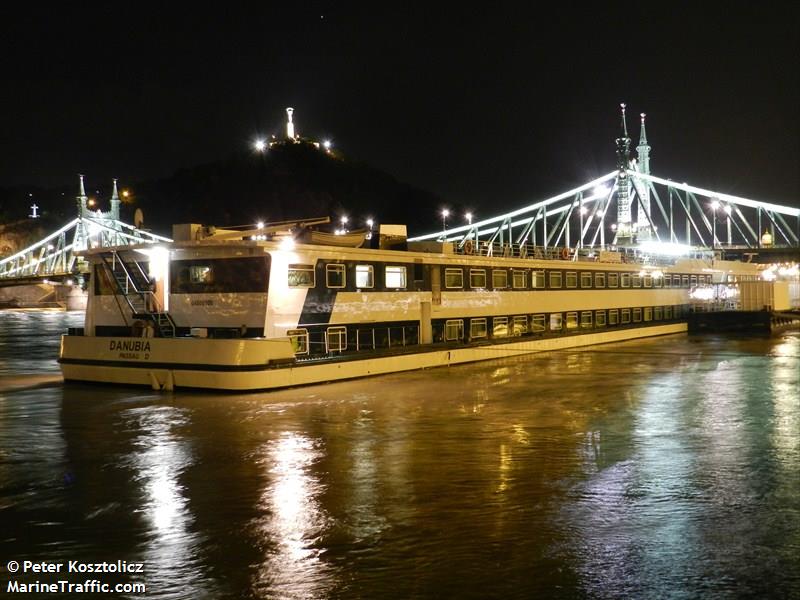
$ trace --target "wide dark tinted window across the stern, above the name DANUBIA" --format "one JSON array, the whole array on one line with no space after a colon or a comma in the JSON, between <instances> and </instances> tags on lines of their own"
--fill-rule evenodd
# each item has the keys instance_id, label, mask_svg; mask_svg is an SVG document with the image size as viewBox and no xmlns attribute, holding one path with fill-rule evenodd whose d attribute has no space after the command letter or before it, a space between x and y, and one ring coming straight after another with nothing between
<instances>
[{"instance_id":1,"label":"wide dark tinted window across the stern, above the name DANUBIA","mask_svg":"<svg viewBox=\"0 0 800 600\"><path fill-rule=\"evenodd\" d=\"M264 293L268 281L268 256L174 260L170 265L173 294Z\"/></svg>"}]
</instances>

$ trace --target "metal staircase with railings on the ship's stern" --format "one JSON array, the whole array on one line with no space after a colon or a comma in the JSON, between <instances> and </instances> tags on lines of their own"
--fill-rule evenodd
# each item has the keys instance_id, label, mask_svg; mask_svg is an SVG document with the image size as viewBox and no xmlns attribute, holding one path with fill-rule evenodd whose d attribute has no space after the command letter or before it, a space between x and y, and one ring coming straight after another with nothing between
<instances>
[{"instance_id":1,"label":"metal staircase with railings on the ship's stern","mask_svg":"<svg viewBox=\"0 0 800 600\"><path fill-rule=\"evenodd\" d=\"M142 266L136 261L126 261L116 250L103 252L100 258L114 280L117 295L124 298L133 318L151 321L158 337L175 337L175 322L159 306Z\"/></svg>"}]
</instances>

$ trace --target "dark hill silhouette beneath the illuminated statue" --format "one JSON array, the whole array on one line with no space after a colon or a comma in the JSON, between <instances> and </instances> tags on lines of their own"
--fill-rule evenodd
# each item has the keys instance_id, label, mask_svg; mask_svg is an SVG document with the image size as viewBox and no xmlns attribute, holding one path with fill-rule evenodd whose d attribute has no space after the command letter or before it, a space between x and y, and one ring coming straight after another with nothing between
<instances>
[{"instance_id":1,"label":"dark hill silhouette beneath the illuminated statue","mask_svg":"<svg viewBox=\"0 0 800 600\"><path fill-rule=\"evenodd\" d=\"M346 215L350 228L363 227L371 217L419 231L431 229L440 205L434 194L306 143L241 153L135 186L135 206L154 229L172 223L224 227L319 216L338 224Z\"/></svg>"}]
</instances>

